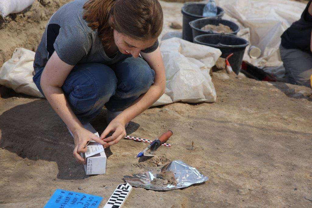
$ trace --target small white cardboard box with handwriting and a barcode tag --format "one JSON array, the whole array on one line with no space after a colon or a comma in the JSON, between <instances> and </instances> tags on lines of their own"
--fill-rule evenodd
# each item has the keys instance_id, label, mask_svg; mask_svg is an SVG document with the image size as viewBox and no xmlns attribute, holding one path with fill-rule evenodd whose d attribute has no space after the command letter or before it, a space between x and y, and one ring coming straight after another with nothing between
<instances>
[{"instance_id":1,"label":"small white cardboard box with handwriting and a barcode tag","mask_svg":"<svg viewBox=\"0 0 312 208\"><path fill-rule=\"evenodd\" d=\"M98 133L95 135L99 136ZM106 173L106 154L101 144L91 140L85 153L80 153L86 159L85 174L97 175Z\"/></svg>"}]
</instances>

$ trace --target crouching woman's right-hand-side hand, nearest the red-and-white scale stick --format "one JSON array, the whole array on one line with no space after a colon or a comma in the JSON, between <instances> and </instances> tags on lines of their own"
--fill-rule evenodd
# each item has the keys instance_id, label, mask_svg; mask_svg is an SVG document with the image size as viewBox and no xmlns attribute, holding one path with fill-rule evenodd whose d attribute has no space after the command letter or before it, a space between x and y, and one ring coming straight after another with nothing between
<instances>
[{"instance_id":1,"label":"crouching woman's right-hand-side hand, nearest the red-and-white scale stick","mask_svg":"<svg viewBox=\"0 0 312 208\"><path fill-rule=\"evenodd\" d=\"M125 124L118 119L113 119L110 124L108 124L100 137L106 143L103 145L104 148L117 144L126 136L126 129L124 128L124 125ZM114 131L114 133L110 137L105 138L112 131Z\"/></svg>"}]
</instances>

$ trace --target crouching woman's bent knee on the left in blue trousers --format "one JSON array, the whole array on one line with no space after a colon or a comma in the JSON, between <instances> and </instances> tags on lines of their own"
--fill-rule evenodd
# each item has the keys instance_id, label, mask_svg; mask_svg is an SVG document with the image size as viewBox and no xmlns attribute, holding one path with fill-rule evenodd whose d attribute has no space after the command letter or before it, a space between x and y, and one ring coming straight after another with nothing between
<instances>
[{"instance_id":1,"label":"crouching woman's bent knee on the left in blue trousers","mask_svg":"<svg viewBox=\"0 0 312 208\"><path fill-rule=\"evenodd\" d=\"M115 94L116 76L103 64L76 65L63 85L75 114L101 108Z\"/></svg>"}]
</instances>

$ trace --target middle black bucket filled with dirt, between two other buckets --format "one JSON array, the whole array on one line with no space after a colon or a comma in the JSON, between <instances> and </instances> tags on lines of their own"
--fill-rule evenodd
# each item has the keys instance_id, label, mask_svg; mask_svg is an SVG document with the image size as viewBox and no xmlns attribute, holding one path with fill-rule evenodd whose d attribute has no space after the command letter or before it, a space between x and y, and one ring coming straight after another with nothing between
<instances>
[{"instance_id":1,"label":"middle black bucket filled with dirt, between two other buckets","mask_svg":"<svg viewBox=\"0 0 312 208\"><path fill-rule=\"evenodd\" d=\"M203 34L216 33L212 31L202 30L201 28L208 24L219 25L220 23L231 28L233 32L228 33L228 34L236 35L237 32L240 30L239 26L236 25L234 22L229 21L229 20L222 20L221 18L205 17L205 18L201 18L201 19L197 19L197 20L193 20L189 22L190 27L192 28L193 37L196 37L198 35L203 35ZM216 33L216 34L220 34L220 33Z\"/></svg>"}]
</instances>

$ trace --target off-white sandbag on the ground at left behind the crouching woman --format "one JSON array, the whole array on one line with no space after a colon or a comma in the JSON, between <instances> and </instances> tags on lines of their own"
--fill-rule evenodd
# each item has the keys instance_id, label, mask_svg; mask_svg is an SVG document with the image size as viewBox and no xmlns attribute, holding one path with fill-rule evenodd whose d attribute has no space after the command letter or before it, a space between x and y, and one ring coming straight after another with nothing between
<instances>
[{"instance_id":1,"label":"off-white sandbag on the ground at left behind the crouching woman","mask_svg":"<svg viewBox=\"0 0 312 208\"><path fill-rule=\"evenodd\" d=\"M17 48L12 58L0 69L0 85L14 89L15 92L35 97L43 97L32 80L35 52L25 48Z\"/></svg>"}]
</instances>

